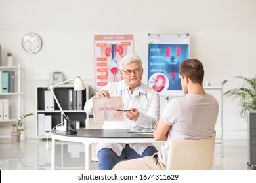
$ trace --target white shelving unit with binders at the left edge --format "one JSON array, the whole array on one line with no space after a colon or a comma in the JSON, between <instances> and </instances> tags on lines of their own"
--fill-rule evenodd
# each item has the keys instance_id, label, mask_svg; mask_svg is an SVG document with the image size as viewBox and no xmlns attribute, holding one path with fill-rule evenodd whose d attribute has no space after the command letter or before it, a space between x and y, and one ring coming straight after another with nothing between
<instances>
[{"instance_id":1,"label":"white shelving unit with binders at the left edge","mask_svg":"<svg viewBox=\"0 0 256 183\"><path fill-rule=\"evenodd\" d=\"M0 67L0 123L16 122L21 114L21 69L19 64Z\"/></svg>"}]
</instances>

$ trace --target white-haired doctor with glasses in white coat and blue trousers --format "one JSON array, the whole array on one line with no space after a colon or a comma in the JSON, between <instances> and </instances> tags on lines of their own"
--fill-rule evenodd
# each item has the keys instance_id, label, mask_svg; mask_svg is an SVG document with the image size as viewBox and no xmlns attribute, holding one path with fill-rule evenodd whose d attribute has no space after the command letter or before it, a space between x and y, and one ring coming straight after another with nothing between
<instances>
[{"instance_id":1,"label":"white-haired doctor with glasses in white coat and blue trousers","mask_svg":"<svg viewBox=\"0 0 256 183\"><path fill-rule=\"evenodd\" d=\"M158 92L141 81L142 61L139 56L129 54L121 59L119 67L124 79L108 83L95 97L121 96L123 108L130 111L126 112L122 126L120 122L105 122L103 128L154 128L159 118L160 97ZM93 114L92 99L85 103L85 112ZM152 144L100 143L96 152L99 169L110 170L122 159L152 156L157 150Z\"/></svg>"}]
</instances>

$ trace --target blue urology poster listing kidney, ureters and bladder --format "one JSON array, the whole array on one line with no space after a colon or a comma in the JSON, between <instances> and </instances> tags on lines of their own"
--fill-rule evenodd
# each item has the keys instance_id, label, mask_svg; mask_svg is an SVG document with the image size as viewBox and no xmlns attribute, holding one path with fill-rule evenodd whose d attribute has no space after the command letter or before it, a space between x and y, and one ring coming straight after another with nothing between
<instances>
[{"instance_id":1,"label":"blue urology poster listing kidney, ureters and bladder","mask_svg":"<svg viewBox=\"0 0 256 183\"><path fill-rule=\"evenodd\" d=\"M148 36L148 86L160 96L182 96L179 65L189 57L189 36Z\"/></svg>"}]
</instances>

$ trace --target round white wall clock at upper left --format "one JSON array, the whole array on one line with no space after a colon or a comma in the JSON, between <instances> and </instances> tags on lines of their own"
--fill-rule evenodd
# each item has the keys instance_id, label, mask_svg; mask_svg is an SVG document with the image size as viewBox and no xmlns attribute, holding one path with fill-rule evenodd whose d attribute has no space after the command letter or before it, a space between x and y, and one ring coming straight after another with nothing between
<instances>
[{"instance_id":1,"label":"round white wall clock at upper left","mask_svg":"<svg viewBox=\"0 0 256 183\"><path fill-rule=\"evenodd\" d=\"M42 39L37 33L27 33L22 38L22 48L30 54L38 52L41 47Z\"/></svg>"}]
</instances>

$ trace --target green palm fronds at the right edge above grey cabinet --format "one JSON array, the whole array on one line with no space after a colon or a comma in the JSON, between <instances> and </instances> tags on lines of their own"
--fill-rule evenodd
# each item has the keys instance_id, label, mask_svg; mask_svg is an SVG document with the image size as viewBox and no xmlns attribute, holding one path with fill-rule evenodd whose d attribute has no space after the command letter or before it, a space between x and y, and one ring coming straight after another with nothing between
<instances>
[{"instance_id":1,"label":"green palm fronds at the right edge above grey cabinet","mask_svg":"<svg viewBox=\"0 0 256 183\"><path fill-rule=\"evenodd\" d=\"M228 90L224 95L227 97L238 97L240 99L242 107L240 116L246 120L248 111L256 109L256 76L253 78L237 76L237 78L243 80L242 86Z\"/></svg>"}]
</instances>

